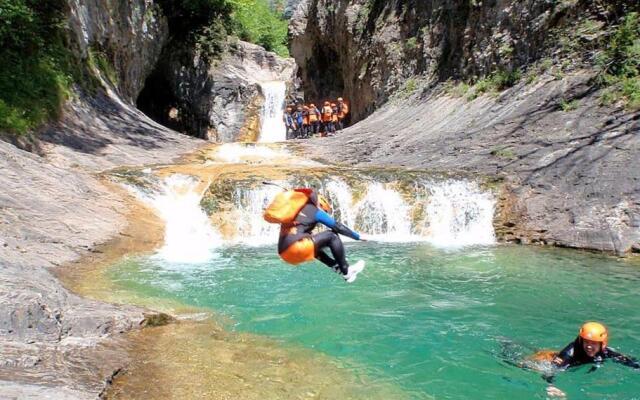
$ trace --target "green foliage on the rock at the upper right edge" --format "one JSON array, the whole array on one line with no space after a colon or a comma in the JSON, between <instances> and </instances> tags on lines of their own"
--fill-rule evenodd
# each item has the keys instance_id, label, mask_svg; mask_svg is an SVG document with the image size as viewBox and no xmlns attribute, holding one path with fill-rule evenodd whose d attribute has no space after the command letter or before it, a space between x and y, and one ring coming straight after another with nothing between
<instances>
[{"instance_id":1,"label":"green foliage on the rock at the upper right edge","mask_svg":"<svg viewBox=\"0 0 640 400\"><path fill-rule=\"evenodd\" d=\"M597 60L602 104L618 100L632 109L640 108L640 14L627 14Z\"/></svg>"}]
</instances>

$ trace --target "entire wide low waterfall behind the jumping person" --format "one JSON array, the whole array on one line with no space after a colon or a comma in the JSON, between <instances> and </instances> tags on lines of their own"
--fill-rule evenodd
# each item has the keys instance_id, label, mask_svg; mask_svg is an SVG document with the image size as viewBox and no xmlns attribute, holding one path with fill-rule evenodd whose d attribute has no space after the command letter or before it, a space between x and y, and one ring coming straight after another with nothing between
<instances>
[{"instance_id":1,"label":"entire wide low waterfall behind the jumping person","mask_svg":"<svg viewBox=\"0 0 640 400\"><path fill-rule=\"evenodd\" d=\"M151 176L151 175L149 175ZM317 187L332 205L336 220L385 242L429 242L439 247L495 243L495 199L473 181L416 179L384 182L362 176L353 187L340 177L292 179L284 187ZM259 181L258 181L259 182ZM147 180L133 189L166 223L157 257L174 263L202 263L221 245L273 245L280 227L263 220L264 208L281 191L255 181L237 181L231 191L203 193L201 181L174 174ZM155 189L148 189L153 187ZM206 204L207 213L202 209Z\"/></svg>"}]
</instances>

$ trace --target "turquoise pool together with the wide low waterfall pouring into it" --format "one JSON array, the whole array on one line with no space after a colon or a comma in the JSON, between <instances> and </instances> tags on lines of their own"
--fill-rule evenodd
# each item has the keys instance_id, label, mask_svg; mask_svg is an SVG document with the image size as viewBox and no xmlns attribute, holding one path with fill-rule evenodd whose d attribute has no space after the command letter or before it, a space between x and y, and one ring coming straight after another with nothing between
<instances>
[{"instance_id":1,"label":"turquoise pool together with the wide low waterfall pouring into it","mask_svg":"<svg viewBox=\"0 0 640 400\"><path fill-rule=\"evenodd\" d=\"M480 182L317 166L292 174L270 164L286 149L227 146L244 156L230 164L216 158L229 151L214 151L204 163L216 179L203 170L173 171L147 174L136 186L165 220L165 243L155 255L116 265L109 275L118 287L208 308L232 333L328 357L345 379L366 376L360 387L349 381L348 398L372 398L372 385L394 393L383 398L546 398L540 374L510 362L562 348L585 320L606 322L613 347L640 354L640 267L578 251L497 245L495 196ZM261 215L280 190L260 184L270 177L316 187L336 218L375 237L346 243L349 260L367 262L356 283L320 263L294 268L279 260L278 227ZM595 373L560 373L556 385L571 399L632 399L638 377L607 363ZM283 393L299 397L292 388Z\"/></svg>"}]
</instances>

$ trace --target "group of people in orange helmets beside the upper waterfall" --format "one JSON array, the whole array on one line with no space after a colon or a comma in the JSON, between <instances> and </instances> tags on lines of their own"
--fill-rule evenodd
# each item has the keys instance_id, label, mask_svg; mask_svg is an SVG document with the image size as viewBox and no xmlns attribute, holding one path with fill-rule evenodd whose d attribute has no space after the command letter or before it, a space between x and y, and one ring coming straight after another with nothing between
<instances>
[{"instance_id":1,"label":"group of people in orange helmets beside the upper waterfall","mask_svg":"<svg viewBox=\"0 0 640 400\"><path fill-rule=\"evenodd\" d=\"M282 117L287 127L287 140L333 135L344 128L348 114L349 106L342 97L335 103L325 101L321 108L314 103L289 105Z\"/></svg>"}]
</instances>

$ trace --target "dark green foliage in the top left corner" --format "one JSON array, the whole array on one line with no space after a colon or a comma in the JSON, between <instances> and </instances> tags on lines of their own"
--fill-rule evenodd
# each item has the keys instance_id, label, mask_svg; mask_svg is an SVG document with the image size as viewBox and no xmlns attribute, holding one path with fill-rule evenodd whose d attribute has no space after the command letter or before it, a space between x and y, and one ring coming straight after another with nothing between
<instances>
[{"instance_id":1,"label":"dark green foliage in the top left corner","mask_svg":"<svg viewBox=\"0 0 640 400\"><path fill-rule=\"evenodd\" d=\"M78 63L64 43L63 0L0 0L0 130L22 135L57 118Z\"/></svg>"}]
</instances>

